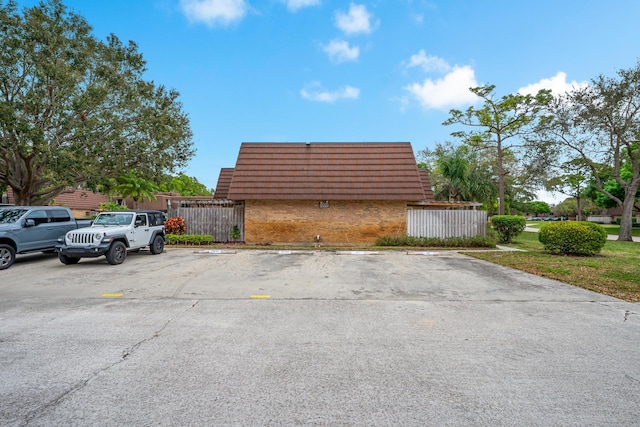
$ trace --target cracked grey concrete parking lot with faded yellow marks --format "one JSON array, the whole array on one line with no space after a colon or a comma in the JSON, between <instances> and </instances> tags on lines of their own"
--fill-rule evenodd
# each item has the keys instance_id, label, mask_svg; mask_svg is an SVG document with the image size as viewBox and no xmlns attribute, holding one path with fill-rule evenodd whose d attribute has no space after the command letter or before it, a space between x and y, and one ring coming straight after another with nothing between
<instances>
[{"instance_id":1,"label":"cracked grey concrete parking lot with faded yellow marks","mask_svg":"<svg viewBox=\"0 0 640 427\"><path fill-rule=\"evenodd\" d=\"M453 252L0 271L0 425L637 425L640 306Z\"/></svg>"}]
</instances>

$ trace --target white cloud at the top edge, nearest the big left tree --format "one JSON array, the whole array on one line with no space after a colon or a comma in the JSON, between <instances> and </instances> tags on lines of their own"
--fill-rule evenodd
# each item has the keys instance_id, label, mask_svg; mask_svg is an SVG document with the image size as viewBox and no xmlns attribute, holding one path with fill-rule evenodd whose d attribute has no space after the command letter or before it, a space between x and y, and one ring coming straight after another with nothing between
<instances>
[{"instance_id":1,"label":"white cloud at the top edge, nearest the big left tree","mask_svg":"<svg viewBox=\"0 0 640 427\"><path fill-rule=\"evenodd\" d=\"M245 0L180 0L180 7L189 21L210 27L240 21L249 9Z\"/></svg>"}]
</instances>

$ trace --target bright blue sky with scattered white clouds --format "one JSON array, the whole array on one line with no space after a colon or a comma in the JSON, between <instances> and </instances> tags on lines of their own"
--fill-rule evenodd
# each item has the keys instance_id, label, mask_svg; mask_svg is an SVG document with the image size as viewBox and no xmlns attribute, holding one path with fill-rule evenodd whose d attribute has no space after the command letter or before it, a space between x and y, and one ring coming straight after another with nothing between
<instances>
[{"instance_id":1,"label":"bright blue sky with scattered white clouds","mask_svg":"<svg viewBox=\"0 0 640 427\"><path fill-rule=\"evenodd\" d=\"M184 172L210 188L245 141L417 154L454 140L442 122L476 102L469 87L561 92L640 58L637 0L63 1L180 92L197 149Z\"/></svg>"}]
</instances>

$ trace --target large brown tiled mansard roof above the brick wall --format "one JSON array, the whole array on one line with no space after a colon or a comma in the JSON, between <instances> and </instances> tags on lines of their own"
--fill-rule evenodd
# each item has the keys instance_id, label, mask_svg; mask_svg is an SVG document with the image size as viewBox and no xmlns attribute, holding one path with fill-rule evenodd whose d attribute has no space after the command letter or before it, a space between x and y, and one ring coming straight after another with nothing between
<instances>
[{"instance_id":1,"label":"large brown tiled mansard roof above the brick wall","mask_svg":"<svg viewBox=\"0 0 640 427\"><path fill-rule=\"evenodd\" d=\"M243 143L232 200L424 200L411 144Z\"/></svg>"}]
</instances>

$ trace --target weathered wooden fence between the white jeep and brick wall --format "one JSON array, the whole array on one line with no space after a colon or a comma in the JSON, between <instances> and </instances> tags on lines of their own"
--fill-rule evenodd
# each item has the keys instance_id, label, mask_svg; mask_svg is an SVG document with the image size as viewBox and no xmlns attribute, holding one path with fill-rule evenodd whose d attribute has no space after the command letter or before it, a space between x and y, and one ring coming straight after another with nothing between
<instances>
[{"instance_id":1,"label":"weathered wooden fence between the white jeep and brick wall","mask_svg":"<svg viewBox=\"0 0 640 427\"><path fill-rule=\"evenodd\" d=\"M244 241L244 206L179 207L170 209L168 214L170 218L184 219L187 234L210 234L215 242ZM231 238L234 226L240 230L238 239Z\"/></svg>"}]
</instances>

